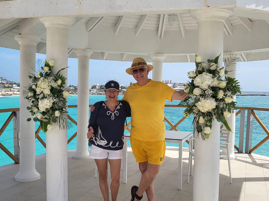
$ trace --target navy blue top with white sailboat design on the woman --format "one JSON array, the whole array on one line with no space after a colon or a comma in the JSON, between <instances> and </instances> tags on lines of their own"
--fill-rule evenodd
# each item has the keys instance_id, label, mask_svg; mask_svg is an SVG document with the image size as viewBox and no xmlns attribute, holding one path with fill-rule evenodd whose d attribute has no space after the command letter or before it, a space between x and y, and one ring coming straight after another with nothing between
<instances>
[{"instance_id":1,"label":"navy blue top with white sailboat design on the woman","mask_svg":"<svg viewBox=\"0 0 269 201\"><path fill-rule=\"evenodd\" d=\"M111 111L104 101L94 104L88 128L94 129L91 143L106 150L123 148L124 122L131 116L131 108L126 101L119 101L114 111Z\"/></svg>"}]
</instances>

